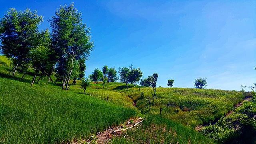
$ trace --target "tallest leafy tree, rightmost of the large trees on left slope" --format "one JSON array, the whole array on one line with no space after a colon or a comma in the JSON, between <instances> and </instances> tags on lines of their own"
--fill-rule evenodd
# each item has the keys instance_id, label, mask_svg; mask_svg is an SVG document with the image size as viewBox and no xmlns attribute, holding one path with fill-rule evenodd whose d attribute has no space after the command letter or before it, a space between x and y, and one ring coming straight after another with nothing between
<instances>
[{"instance_id":1,"label":"tallest leafy tree, rightmost of the large trees on left slope","mask_svg":"<svg viewBox=\"0 0 256 144\"><path fill-rule=\"evenodd\" d=\"M58 56L56 72L63 79L62 90L67 90L75 60L87 60L90 56L93 47L90 42L90 29L82 22L81 13L74 8L73 3L70 6L61 6L49 21L52 43Z\"/></svg>"}]
</instances>

